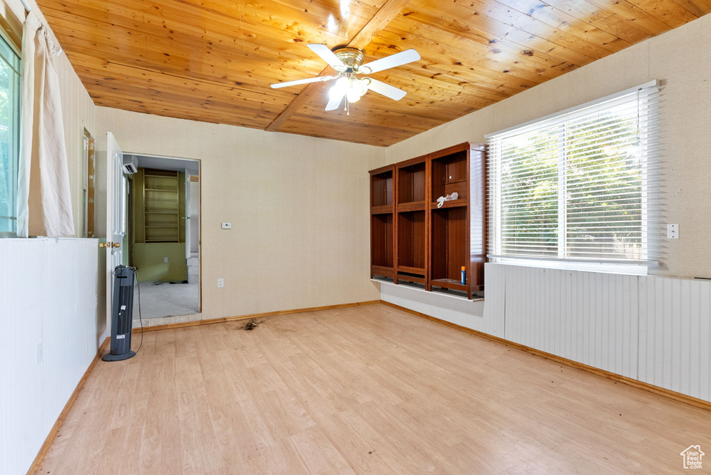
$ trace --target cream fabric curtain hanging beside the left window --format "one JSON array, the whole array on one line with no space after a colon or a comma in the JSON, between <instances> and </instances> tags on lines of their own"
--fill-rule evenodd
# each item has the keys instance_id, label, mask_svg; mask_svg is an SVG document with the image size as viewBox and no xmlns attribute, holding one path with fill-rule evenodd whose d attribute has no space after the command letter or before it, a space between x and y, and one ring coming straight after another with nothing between
<instances>
[{"instance_id":1,"label":"cream fabric curtain hanging beside the left window","mask_svg":"<svg viewBox=\"0 0 711 475\"><path fill-rule=\"evenodd\" d=\"M22 35L22 136L18 166L17 235L74 234L64 142L58 50L29 12Z\"/></svg>"}]
</instances>

